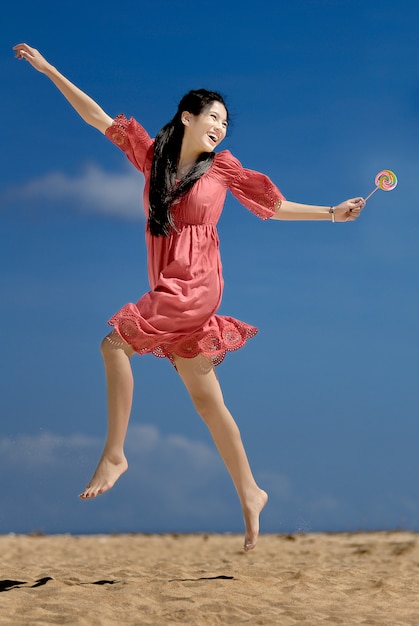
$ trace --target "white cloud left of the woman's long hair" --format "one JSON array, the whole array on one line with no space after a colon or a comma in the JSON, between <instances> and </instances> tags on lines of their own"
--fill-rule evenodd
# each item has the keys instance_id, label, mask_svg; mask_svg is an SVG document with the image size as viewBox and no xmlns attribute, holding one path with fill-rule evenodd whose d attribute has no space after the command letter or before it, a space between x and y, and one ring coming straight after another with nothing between
<instances>
[{"instance_id":1,"label":"white cloud left of the woman's long hair","mask_svg":"<svg viewBox=\"0 0 419 626\"><path fill-rule=\"evenodd\" d=\"M71 202L77 210L141 219L144 216L143 188L143 177L132 167L115 173L89 164L76 176L50 172L19 187L11 187L3 194L3 200Z\"/></svg>"}]
</instances>

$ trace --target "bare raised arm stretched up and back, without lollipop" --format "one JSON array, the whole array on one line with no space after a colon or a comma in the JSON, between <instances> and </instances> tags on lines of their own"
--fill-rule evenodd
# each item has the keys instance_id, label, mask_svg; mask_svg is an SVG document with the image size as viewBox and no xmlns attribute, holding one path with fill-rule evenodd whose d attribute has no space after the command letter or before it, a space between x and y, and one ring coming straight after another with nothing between
<instances>
[{"instance_id":1,"label":"bare raised arm stretched up and back, without lollipop","mask_svg":"<svg viewBox=\"0 0 419 626\"><path fill-rule=\"evenodd\" d=\"M111 126L113 119L90 96L73 85L53 65L48 63L38 50L31 48L26 43L14 46L13 50L15 50L18 59L29 61L38 72L48 76L87 124L94 126L101 133L105 133L106 129Z\"/></svg>"}]
</instances>

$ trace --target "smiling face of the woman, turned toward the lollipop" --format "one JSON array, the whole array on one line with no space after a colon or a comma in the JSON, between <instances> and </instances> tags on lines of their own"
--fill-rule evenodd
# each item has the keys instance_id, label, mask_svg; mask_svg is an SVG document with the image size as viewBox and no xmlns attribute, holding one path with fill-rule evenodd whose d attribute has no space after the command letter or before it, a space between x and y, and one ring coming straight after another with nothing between
<instances>
[{"instance_id":1,"label":"smiling face of the woman, turned toward the lollipop","mask_svg":"<svg viewBox=\"0 0 419 626\"><path fill-rule=\"evenodd\" d=\"M199 115L184 111L182 122L185 125L184 141L188 148L198 155L212 152L226 136L227 110L221 102L214 101Z\"/></svg>"}]
</instances>

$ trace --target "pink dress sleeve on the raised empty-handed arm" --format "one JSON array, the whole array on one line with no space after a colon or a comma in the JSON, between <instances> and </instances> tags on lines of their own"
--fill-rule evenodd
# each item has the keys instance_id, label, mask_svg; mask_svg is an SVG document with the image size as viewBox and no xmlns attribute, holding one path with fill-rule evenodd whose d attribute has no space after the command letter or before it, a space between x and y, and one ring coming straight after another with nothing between
<instances>
[{"instance_id":1,"label":"pink dress sleeve on the raised empty-handed arm","mask_svg":"<svg viewBox=\"0 0 419 626\"><path fill-rule=\"evenodd\" d=\"M127 155L131 163L144 173L149 153L152 154L153 139L133 117L117 115L105 135ZM150 156L151 156L150 154Z\"/></svg>"}]
</instances>

